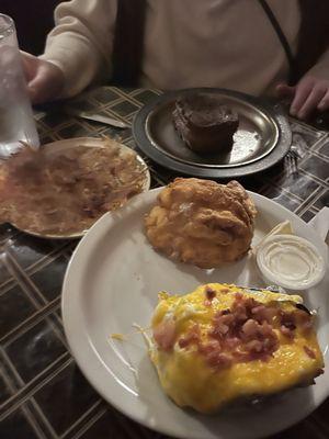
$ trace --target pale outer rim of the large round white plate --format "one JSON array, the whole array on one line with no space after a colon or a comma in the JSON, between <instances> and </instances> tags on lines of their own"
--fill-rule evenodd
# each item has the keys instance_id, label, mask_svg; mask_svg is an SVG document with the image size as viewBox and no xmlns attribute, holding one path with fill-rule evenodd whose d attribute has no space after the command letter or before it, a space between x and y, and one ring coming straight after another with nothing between
<instances>
[{"instance_id":1,"label":"pale outer rim of the large round white plate","mask_svg":"<svg viewBox=\"0 0 329 439\"><path fill-rule=\"evenodd\" d=\"M137 202L143 202L143 198L148 195L151 196L150 194L154 193L155 195L158 194L163 188L156 188L152 189L146 193L140 193L138 194L136 199L140 199L140 200L136 200ZM260 202L265 202L265 203L274 203L280 210L282 210L283 212L288 212L291 215L295 216L297 222L299 222L299 224L304 224L306 226L307 223L304 222L304 219L302 219L299 216L297 216L294 212L290 211L288 209L286 209L285 206L276 203L275 201L268 199L264 195L258 194L256 192L252 191L247 191L251 196L253 196L254 199L258 199ZM258 204L256 202L256 204ZM124 207L124 210L127 210L129 206L129 203L127 203ZM70 297L70 293L69 293L69 283L73 282L70 281L70 273L72 272L72 267L73 264L76 264L76 259L77 259L77 255L80 254L81 249L83 249L83 246L86 245L84 243L87 243L88 240L92 239L92 235L95 233L95 230L99 227L103 227L104 224L107 224L107 229L110 227L112 227L112 225L114 225L116 223L116 218L113 218L110 216L111 213L105 213L101 218L98 219L97 223L94 223L92 225L92 227L88 230L88 233L86 234L86 236L81 239L81 241L79 243L79 245L77 246L77 248L75 249L72 257L70 258L70 261L68 263L66 273L65 273L65 279L64 279L64 283L63 283L63 290L61 290L61 314L63 314L63 325L64 325L64 330L65 330L65 335L68 341L68 346L70 349L70 352L72 354L72 357L75 358L77 364L79 365L82 374L87 378L88 382L90 383L90 385L110 404L112 405L114 408L116 408L117 410L120 410L121 413L123 413L125 416L127 416L128 418L139 423L140 425L144 425L150 429L152 429L154 431L157 432L161 432L164 435L169 435L169 436L173 436L173 437L178 437L181 439L188 439L188 436L185 435L179 435L174 428L170 428L170 425L168 425L167 427L159 427L159 426L155 426L148 418L143 418L141 415L137 415L132 412L129 412L129 408L126 408L126 406L124 404L120 404L120 402L117 402L114 397L111 398L111 396L109 396L109 393L106 393L102 386L102 384L98 383L98 379L94 376L94 373L91 372L91 367L87 367L86 368L86 363L83 361L83 356L84 352L79 352L79 349L77 348L77 345L81 344L81 330L76 330L77 334L75 333L75 329L72 329L72 325L70 324L70 313L68 312L68 305L67 303L69 302L69 297ZM309 226L308 226L309 227ZM320 239L319 236L317 235L317 233L315 230L311 229L311 234L317 237L317 239ZM325 249L325 244L324 244L324 249ZM328 261L327 261L328 262ZM75 317L76 318L76 317ZM80 328L81 329L81 328ZM98 356L98 353L94 351L94 349L91 347L91 345L89 344L88 340L88 347L92 350L93 354L94 354L94 361L97 362L102 362L101 358ZM111 375L109 373L109 380L111 379ZM115 379L113 378L113 380L115 381ZM115 384L116 385L116 384ZM160 384L159 384L160 385ZM288 427L292 427L293 425L297 424L298 421L303 420L305 417L307 417L310 413L313 413L327 397L329 394L329 386L328 386L328 391L327 393L320 398L319 403L317 405L314 405L313 407L309 407L306 413L304 413L302 416L297 416L293 421L290 421L288 419L286 419L282 426L280 427L280 429L273 429L272 431L266 432L265 435L274 435L279 431L282 431ZM180 407L178 407L178 409L180 409ZM263 434L256 434L252 438L253 439L258 439L258 438L263 438L264 435ZM207 435L203 435L201 436L193 436L193 438L197 438L197 439L207 439L207 438L214 438L214 436L212 436L212 434L209 434L209 436Z\"/></svg>"}]
</instances>

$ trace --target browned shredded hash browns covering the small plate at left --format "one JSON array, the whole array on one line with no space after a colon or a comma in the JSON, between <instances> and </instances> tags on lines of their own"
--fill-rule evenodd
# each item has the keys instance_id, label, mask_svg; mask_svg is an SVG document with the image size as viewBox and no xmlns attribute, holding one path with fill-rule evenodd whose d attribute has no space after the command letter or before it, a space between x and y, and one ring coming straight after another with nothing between
<instances>
[{"instance_id":1,"label":"browned shredded hash browns covering the small plate at left","mask_svg":"<svg viewBox=\"0 0 329 439\"><path fill-rule=\"evenodd\" d=\"M56 154L25 148L0 168L0 219L37 234L83 233L143 191L137 155L107 139Z\"/></svg>"}]
</instances>

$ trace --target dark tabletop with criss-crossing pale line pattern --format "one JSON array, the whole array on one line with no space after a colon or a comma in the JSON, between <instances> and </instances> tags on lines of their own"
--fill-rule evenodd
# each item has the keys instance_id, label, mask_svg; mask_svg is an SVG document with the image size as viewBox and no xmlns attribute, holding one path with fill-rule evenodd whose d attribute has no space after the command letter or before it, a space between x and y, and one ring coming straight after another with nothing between
<instances>
[{"instance_id":1,"label":"dark tabletop with criss-crossing pale line pattern","mask_svg":"<svg viewBox=\"0 0 329 439\"><path fill-rule=\"evenodd\" d=\"M102 88L79 106L132 122L152 90ZM78 120L52 105L36 113L42 143L79 136L121 136L131 130ZM294 155L269 171L240 180L308 222L329 205L329 135L291 121ZM148 160L152 187L175 177ZM60 290L77 241L44 240L0 226L0 438L162 438L109 406L70 356L60 317ZM303 404L303 402L300 402ZM272 439L329 438L329 399L308 418Z\"/></svg>"}]
</instances>

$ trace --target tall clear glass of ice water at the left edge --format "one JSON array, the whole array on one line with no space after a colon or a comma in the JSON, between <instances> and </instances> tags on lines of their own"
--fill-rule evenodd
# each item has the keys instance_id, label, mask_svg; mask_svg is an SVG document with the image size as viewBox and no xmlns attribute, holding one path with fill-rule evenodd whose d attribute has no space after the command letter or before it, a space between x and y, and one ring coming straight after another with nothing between
<instances>
[{"instance_id":1,"label":"tall clear glass of ice water at the left edge","mask_svg":"<svg viewBox=\"0 0 329 439\"><path fill-rule=\"evenodd\" d=\"M37 149L39 139L27 95L15 26L0 14L0 159L29 144Z\"/></svg>"}]
</instances>

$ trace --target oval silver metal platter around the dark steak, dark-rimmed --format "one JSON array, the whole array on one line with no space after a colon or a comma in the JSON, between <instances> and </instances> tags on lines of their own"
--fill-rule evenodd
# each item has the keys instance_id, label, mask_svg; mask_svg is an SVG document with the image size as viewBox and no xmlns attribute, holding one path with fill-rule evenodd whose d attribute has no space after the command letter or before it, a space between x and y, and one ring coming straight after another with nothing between
<instances>
[{"instance_id":1,"label":"oval silver metal platter around the dark steak, dark-rimmed","mask_svg":"<svg viewBox=\"0 0 329 439\"><path fill-rule=\"evenodd\" d=\"M202 156L179 137L172 112L179 97L191 93L220 97L220 103L238 113L239 128L228 153ZM266 169L281 160L291 146L291 130L277 108L239 92L223 89L188 89L164 93L145 105L134 122L139 148L155 161L182 173L229 178Z\"/></svg>"}]
</instances>

